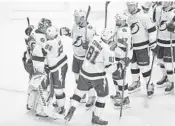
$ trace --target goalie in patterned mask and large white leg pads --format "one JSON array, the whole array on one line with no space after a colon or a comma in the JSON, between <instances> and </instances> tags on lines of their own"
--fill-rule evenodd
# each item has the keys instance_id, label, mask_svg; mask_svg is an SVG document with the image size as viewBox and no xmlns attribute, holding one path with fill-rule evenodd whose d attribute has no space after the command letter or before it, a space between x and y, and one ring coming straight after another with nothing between
<instances>
[{"instance_id":1,"label":"goalie in patterned mask and large white leg pads","mask_svg":"<svg viewBox=\"0 0 175 126\"><path fill-rule=\"evenodd\" d=\"M36 111L36 115L49 116L51 118L57 119L61 116L57 113L52 112L47 104L47 69L45 67L45 57L47 55L47 52L44 50L41 44L39 44L47 41L45 33L46 29L50 26L52 26L51 21L49 19L42 18L38 23L37 29L31 29L30 27L27 28L30 36L33 37L36 42L32 52L34 75L29 82L30 95L28 97L28 103L35 105L34 109ZM36 102L34 98L36 99Z\"/></svg>"}]
</instances>

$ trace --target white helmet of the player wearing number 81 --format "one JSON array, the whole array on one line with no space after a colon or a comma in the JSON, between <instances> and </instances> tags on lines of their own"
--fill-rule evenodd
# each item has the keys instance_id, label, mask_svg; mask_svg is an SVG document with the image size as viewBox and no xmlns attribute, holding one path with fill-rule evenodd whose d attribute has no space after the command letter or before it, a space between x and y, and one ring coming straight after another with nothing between
<instances>
[{"instance_id":1,"label":"white helmet of the player wearing number 81","mask_svg":"<svg viewBox=\"0 0 175 126\"><path fill-rule=\"evenodd\" d=\"M111 42L113 42L114 39L114 31L111 28L105 28L102 33L101 33L101 39L107 43L110 44Z\"/></svg>"}]
</instances>

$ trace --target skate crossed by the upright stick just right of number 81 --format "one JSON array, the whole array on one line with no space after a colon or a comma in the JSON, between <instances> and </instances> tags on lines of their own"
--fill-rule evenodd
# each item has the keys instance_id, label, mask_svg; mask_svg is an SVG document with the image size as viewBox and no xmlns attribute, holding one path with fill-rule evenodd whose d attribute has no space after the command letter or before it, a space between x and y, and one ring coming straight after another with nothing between
<instances>
[{"instance_id":1,"label":"skate crossed by the upright stick just right of number 81","mask_svg":"<svg viewBox=\"0 0 175 126\"><path fill-rule=\"evenodd\" d=\"M123 105L123 108L129 108L130 107L129 106L130 105L129 97L126 97L123 99L123 104L122 104L122 100L114 103L114 108L119 109L121 107L121 105Z\"/></svg>"}]
</instances>

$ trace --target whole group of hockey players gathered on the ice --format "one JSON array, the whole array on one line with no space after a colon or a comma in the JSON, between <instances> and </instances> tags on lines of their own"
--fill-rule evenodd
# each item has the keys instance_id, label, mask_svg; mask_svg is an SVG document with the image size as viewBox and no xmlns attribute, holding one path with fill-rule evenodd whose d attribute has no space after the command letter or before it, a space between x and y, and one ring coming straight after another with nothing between
<instances>
[{"instance_id":1,"label":"whole group of hockey players gathered on the ice","mask_svg":"<svg viewBox=\"0 0 175 126\"><path fill-rule=\"evenodd\" d=\"M95 106L91 123L107 125L108 121L101 118L109 93L106 72L112 74L116 87L116 94L110 96L114 107L128 107L128 92L138 91L141 87L140 72L146 83L147 96L154 94L150 61L155 57L163 73L157 85L166 85L166 93L174 90L173 2L145 2L141 8L135 1L126 4L128 14L117 13L115 26L105 28L101 34L87 21L86 11L81 9L74 12L72 31L66 27L58 29L46 18L42 18L36 28L29 25L25 30L27 51L23 57L30 79L28 110L34 110L37 116L63 117L70 121L77 105L87 97L86 108ZM72 71L77 84L65 117L64 88L68 63L63 35L73 41ZM132 52L132 58L128 58L128 51ZM128 86L125 70L130 62L133 82Z\"/></svg>"}]
</instances>

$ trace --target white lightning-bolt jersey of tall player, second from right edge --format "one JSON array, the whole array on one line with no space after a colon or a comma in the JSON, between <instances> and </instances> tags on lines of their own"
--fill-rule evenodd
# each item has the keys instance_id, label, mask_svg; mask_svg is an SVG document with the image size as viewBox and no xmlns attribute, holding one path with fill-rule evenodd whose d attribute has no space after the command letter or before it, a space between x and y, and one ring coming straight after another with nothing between
<instances>
[{"instance_id":1,"label":"white lightning-bolt jersey of tall player, second from right edge","mask_svg":"<svg viewBox=\"0 0 175 126\"><path fill-rule=\"evenodd\" d=\"M138 10L128 17L131 29L131 42L134 50L148 48L149 44L156 43L157 30L148 15Z\"/></svg>"}]
</instances>

